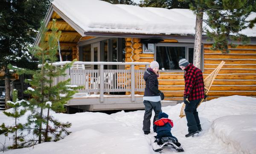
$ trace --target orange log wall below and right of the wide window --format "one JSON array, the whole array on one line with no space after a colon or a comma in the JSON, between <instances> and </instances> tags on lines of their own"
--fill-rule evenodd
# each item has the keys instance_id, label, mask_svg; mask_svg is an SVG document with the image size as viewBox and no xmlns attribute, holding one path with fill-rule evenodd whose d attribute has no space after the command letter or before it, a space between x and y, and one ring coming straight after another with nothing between
<instances>
[{"instance_id":1,"label":"orange log wall below and right of the wide window","mask_svg":"<svg viewBox=\"0 0 256 154\"><path fill-rule=\"evenodd\" d=\"M204 45L204 78L222 60L226 63L216 76L207 99L230 95L256 97L256 45L239 45L230 48L228 54L210 48L211 44ZM183 73L160 73L159 90L164 92L165 100L183 100Z\"/></svg>"}]
</instances>

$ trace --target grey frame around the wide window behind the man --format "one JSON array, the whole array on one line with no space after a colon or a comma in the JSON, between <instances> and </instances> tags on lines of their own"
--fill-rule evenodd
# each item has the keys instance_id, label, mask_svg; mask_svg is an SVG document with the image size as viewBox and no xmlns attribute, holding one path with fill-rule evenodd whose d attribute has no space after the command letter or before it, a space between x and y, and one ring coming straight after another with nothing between
<instances>
[{"instance_id":1,"label":"grey frame around the wide window behind the man","mask_svg":"<svg viewBox=\"0 0 256 154\"><path fill-rule=\"evenodd\" d=\"M157 43L154 48L154 60L157 60L157 46L164 47L185 47L185 59L189 59L189 48L194 48L193 43ZM201 48L201 66L202 72L204 72L204 45ZM183 70L160 70L160 72L183 72Z\"/></svg>"}]
</instances>

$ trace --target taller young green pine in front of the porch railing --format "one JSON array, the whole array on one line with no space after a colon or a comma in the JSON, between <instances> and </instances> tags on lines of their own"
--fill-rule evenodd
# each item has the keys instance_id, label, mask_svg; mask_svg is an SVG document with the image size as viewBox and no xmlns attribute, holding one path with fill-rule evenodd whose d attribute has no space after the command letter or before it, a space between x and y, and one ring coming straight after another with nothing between
<instances>
[{"instance_id":1,"label":"taller young green pine in front of the porch railing","mask_svg":"<svg viewBox=\"0 0 256 154\"><path fill-rule=\"evenodd\" d=\"M55 20L53 20L51 34L49 34L48 41L46 40L46 32L48 29L43 25L41 27L41 41L39 46L30 48L29 52L33 54L38 60L38 70L29 70L18 68L9 64L9 69L17 71L20 74L32 75L32 80L26 79L25 82L29 83L32 87L26 90L26 93L32 96L29 100L29 109L32 115L28 117L27 126L34 124L35 129L33 133L38 135L38 143L41 143L42 135L44 141L51 140L48 133L55 136L55 140L59 140L61 133L67 132L67 128L71 123L61 123L49 115L50 110L55 112L64 112L64 104L72 98L76 90L81 88L78 86L70 86L70 79L67 81L60 81L54 85L53 80L58 76L66 76L65 71L72 67L73 62L65 64L63 67L53 66L53 62L57 61L58 39L61 31L55 27ZM47 109L47 115L43 114L44 109ZM51 126L52 124L53 126ZM44 129L43 126L46 126Z\"/></svg>"}]
</instances>

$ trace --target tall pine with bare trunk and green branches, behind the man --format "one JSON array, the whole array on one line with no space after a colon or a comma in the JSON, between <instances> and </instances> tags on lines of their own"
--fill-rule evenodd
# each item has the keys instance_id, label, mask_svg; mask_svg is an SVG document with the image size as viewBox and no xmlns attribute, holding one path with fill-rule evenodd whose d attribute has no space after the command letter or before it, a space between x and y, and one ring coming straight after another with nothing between
<instances>
[{"instance_id":1,"label":"tall pine with bare trunk and green branches, behind the man","mask_svg":"<svg viewBox=\"0 0 256 154\"><path fill-rule=\"evenodd\" d=\"M247 20L247 17L256 11L255 0L180 0L189 3L190 9L196 14L195 44L193 64L200 67L201 63L201 39L203 31L214 43L212 50L229 52L229 47L235 47L228 39L248 43L247 36L241 34L241 30L252 28L256 18ZM207 19L203 20L204 13ZM203 29L203 22L208 28Z\"/></svg>"}]
</instances>

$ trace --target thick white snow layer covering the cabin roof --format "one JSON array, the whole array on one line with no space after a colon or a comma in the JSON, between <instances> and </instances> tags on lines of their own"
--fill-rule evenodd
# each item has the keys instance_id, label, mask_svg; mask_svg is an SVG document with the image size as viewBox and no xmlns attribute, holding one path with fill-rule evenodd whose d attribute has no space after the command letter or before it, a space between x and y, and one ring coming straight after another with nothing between
<instances>
[{"instance_id":1,"label":"thick white snow layer covering the cabin roof","mask_svg":"<svg viewBox=\"0 0 256 154\"><path fill-rule=\"evenodd\" d=\"M52 5L76 24L80 33L195 34L195 14L189 9L142 8L102 0L54 0ZM242 33L256 36L256 27Z\"/></svg>"}]
</instances>

